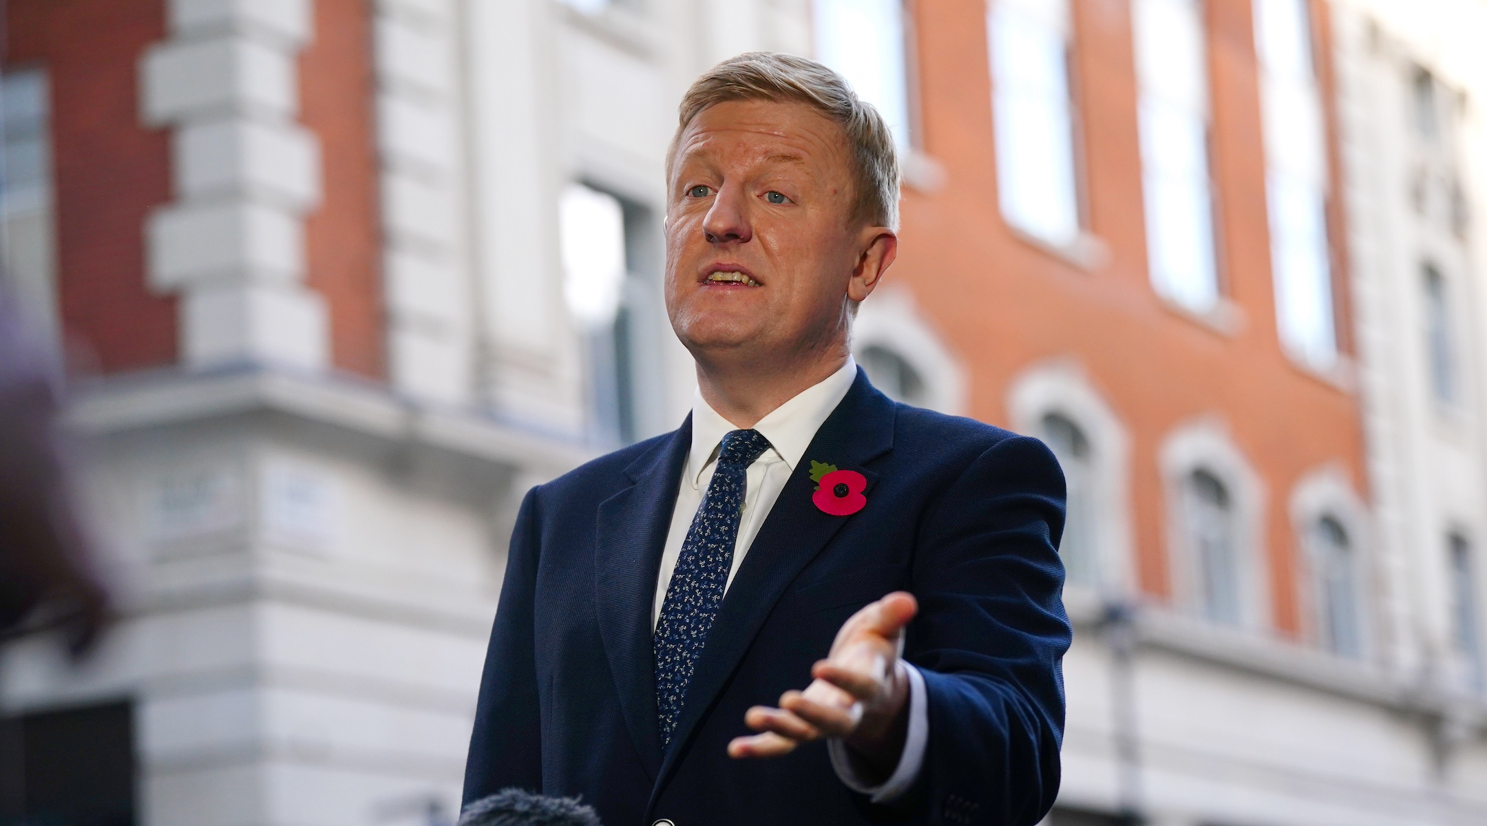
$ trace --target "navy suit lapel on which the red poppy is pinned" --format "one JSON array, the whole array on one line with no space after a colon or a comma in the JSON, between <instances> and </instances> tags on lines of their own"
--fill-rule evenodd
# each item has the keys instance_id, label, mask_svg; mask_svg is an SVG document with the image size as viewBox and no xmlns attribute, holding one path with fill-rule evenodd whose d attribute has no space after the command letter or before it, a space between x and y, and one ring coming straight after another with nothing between
<instances>
[{"instance_id":1,"label":"navy suit lapel on which the red poppy is pinned","mask_svg":"<svg viewBox=\"0 0 1487 826\"><path fill-rule=\"evenodd\" d=\"M842 404L816 431L785 487L775 499L769 517L760 527L754 544L744 557L733 584L729 585L718 617L708 631L708 642L697 660L691 682L687 685L687 701L671 749L660 768L656 793L665 786L675 764L686 753L688 738L697 722L706 716L718 694L727 685L739 661L754 642L760 627L775 603L784 596L790 582L831 541L852 517L834 517L822 513L810 501L815 483L810 481L810 462L827 462L840 469L855 469L867 477L867 493L871 495L877 474L862 465L886 453L894 444L894 403L877 392L867 376L858 370L852 389ZM868 499L871 507L871 499ZM825 657L825 651L821 652ZM801 683L804 688L804 683ZM773 703L776 697L761 697L761 703Z\"/></svg>"}]
</instances>

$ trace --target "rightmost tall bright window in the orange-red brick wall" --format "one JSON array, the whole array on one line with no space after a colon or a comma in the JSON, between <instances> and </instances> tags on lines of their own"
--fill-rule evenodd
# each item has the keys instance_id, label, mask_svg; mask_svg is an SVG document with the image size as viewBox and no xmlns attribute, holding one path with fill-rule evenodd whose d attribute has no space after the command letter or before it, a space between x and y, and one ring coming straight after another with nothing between
<instances>
[{"instance_id":1,"label":"rightmost tall bright window in the orange-red brick wall","mask_svg":"<svg viewBox=\"0 0 1487 826\"><path fill-rule=\"evenodd\" d=\"M1326 140L1309 0L1257 0L1270 261L1280 343L1303 364L1337 362L1326 241Z\"/></svg>"}]
</instances>

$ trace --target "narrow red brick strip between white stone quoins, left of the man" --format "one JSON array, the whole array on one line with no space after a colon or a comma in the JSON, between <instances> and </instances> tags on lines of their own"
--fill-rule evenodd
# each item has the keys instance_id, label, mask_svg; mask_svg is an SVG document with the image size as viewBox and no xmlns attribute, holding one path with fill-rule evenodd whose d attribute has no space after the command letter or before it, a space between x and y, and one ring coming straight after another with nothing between
<instances>
[{"instance_id":1,"label":"narrow red brick strip between white stone quoins, left of the man","mask_svg":"<svg viewBox=\"0 0 1487 826\"><path fill-rule=\"evenodd\" d=\"M324 199L305 223L308 284L330 309L332 362L387 374L367 0L317 0L299 59L302 120L320 137Z\"/></svg>"}]
</instances>

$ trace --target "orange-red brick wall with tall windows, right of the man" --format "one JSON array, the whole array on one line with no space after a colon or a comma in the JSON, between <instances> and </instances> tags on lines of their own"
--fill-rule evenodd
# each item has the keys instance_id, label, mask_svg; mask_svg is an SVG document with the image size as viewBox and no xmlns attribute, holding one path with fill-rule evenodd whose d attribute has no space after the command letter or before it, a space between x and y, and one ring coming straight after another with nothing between
<instances>
[{"instance_id":1,"label":"orange-red brick wall with tall windows, right of the man","mask_svg":"<svg viewBox=\"0 0 1487 826\"><path fill-rule=\"evenodd\" d=\"M1273 621L1297 633L1288 499L1303 474L1334 461L1364 490L1362 432L1358 400L1294 365L1277 339L1249 0L1206 3L1218 256L1240 313L1233 333L1170 309L1148 281L1129 0L1074 0L1071 7L1084 193L1108 260L1081 269L1004 224L984 3L916 3L925 149L949 175L938 193L906 195L889 279L912 284L968 365L978 419L1007 422L1008 385L1035 361L1072 355L1086 367L1132 435L1138 578L1157 599L1172 593L1158 450L1173 428L1218 413L1265 481Z\"/></svg>"}]
</instances>

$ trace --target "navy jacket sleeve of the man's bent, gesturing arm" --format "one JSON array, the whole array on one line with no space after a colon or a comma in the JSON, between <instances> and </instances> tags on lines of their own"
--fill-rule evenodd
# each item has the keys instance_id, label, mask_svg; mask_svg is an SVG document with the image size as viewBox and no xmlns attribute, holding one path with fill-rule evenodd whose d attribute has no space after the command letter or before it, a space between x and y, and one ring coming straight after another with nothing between
<instances>
[{"instance_id":1,"label":"navy jacket sleeve of the man's bent, gesturing arm","mask_svg":"<svg viewBox=\"0 0 1487 826\"><path fill-rule=\"evenodd\" d=\"M1059 792L1065 484L1028 437L975 458L925 513L906 657L925 677L929 741L898 807L928 823L1038 823Z\"/></svg>"}]
</instances>

